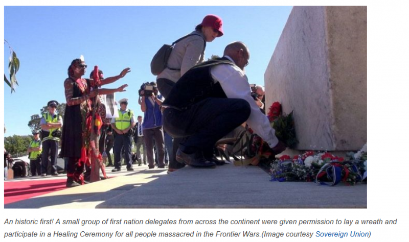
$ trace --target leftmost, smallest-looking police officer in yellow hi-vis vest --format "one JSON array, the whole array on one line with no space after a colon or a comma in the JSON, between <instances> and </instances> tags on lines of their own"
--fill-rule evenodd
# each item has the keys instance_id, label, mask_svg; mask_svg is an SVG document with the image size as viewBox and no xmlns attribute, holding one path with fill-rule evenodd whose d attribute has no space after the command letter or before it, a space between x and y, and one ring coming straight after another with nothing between
<instances>
[{"instance_id":1,"label":"leftmost, smallest-looking police officer in yellow hi-vis vest","mask_svg":"<svg viewBox=\"0 0 409 242\"><path fill-rule=\"evenodd\" d=\"M30 159L30 172L31 176L41 175L41 153L42 153L42 142L40 139L40 134L38 131L33 132L34 139L31 140L27 152L29 153Z\"/></svg>"}]
</instances>

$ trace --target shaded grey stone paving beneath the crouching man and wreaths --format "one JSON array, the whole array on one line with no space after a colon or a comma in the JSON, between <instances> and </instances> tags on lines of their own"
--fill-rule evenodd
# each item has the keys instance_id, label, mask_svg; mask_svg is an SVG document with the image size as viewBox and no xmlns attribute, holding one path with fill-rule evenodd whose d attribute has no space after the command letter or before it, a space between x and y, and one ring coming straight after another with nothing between
<instances>
[{"instance_id":1,"label":"shaded grey stone paving beneath the crouching man and wreaths","mask_svg":"<svg viewBox=\"0 0 409 242\"><path fill-rule=\"evenodd\" d=\"M96 208L366 208L367 185L270 182L259 167L185 167Z\"/></svg>"}]
</instances>

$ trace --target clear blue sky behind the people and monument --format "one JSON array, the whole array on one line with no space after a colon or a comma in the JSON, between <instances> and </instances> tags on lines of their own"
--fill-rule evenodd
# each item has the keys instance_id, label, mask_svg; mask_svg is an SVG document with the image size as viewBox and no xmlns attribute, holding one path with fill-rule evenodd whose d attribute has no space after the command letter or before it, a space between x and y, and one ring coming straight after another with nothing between
<instances>
[{"instance_id":1,"label":"clear blue sky behind the people and monument","mask_svg":"<svg viewBox=\"0 0 409 242\"><path fill-rule=\"evenodd\" d=\"M4 7L4 38L20 59L19 86L10 94L4 86L6 136L30 134L30 116L50 100L65 103L67 67L80 55L105 77L125 67L131 72L117 83L128 84L117 100L142 115L138 90L155 80L150 61L159 47L190 33L207 14L223 19L224 36L207 43L206 59L221 56L226 44L240 40L251 53L246 74L250 83L264 85L264 72L292 7ZM7 75L8 45L4 46ZM268 91L268 90L267 90Z\"/></svg>"}]
</instances>

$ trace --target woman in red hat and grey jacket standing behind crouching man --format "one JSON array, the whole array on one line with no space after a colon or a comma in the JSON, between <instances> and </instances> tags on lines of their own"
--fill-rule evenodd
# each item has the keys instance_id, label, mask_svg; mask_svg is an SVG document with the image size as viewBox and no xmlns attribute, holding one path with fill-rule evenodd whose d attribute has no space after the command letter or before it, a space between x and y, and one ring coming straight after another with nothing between
<instances>
[{"instance_id":1,"label":"woman in red hat and grey jacket standing behind crouching man","mask_svg":"<svg viewBox=\"0 0 409 242\"><path fill-rule=\"evenodd\" d=\"M177 42L169 56L167 67L156 78L157 88L167 98L173 85L193 66L205 60L206 42L212 42L223 35L223 21L219 16L209 14L196 26L195 31ZM175 161L178 144L181 140L173 140L173 157L169 159L169 172L183 167Z\"/></svg>"}]
</instances>

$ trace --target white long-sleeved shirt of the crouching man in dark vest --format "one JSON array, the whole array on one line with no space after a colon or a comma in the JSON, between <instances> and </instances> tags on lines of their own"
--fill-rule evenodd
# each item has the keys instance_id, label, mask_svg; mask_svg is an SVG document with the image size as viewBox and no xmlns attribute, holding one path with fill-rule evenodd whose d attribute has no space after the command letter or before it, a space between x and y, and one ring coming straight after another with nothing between
<instances>
[{"instance_id":1,"label":"white long-sleeved shirt of the crouching man in dark vest","mask_svg":"<svg viewBox=\"0 0 409 242\"><path fill-rule=\"evenodd\" d=\"M234 61L229 56L224 56L233 63ZM224 93L231 99L244 99L250 104L251 114L246 123L253 131L258 134L268 146L273 148L278 144L276 131L271 128L270 122L257 106L256 102L251 96L251 88L248 83L247 76L244 71L236 65L220 64L212 67L210 73L213 80L220 83Z\"/></svg>"}]
</instances>

